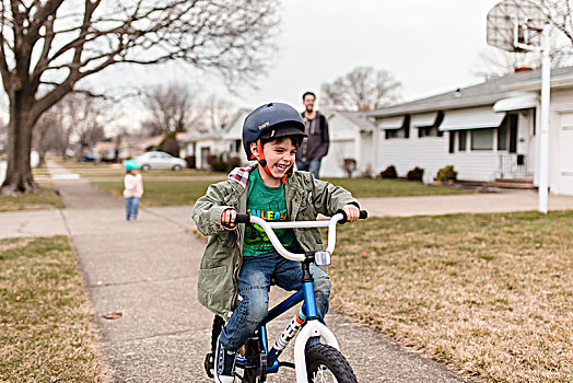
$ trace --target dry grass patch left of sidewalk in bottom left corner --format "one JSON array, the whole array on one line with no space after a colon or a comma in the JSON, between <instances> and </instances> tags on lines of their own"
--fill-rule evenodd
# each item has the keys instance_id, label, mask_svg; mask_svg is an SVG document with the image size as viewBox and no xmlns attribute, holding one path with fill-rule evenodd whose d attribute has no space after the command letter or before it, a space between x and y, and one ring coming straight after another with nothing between
<instances>
[{"instance_id":1,"label":"dry grass patch left of sidewalk in bottom left corner","mask_svg":"<svg viewBox=\"0 0 573 383\"><path fill-rule=\"evenodd\" d=\"M0 381L100 382L90 309L66 236L0 240Z\"/></svg>"}]
</instances>

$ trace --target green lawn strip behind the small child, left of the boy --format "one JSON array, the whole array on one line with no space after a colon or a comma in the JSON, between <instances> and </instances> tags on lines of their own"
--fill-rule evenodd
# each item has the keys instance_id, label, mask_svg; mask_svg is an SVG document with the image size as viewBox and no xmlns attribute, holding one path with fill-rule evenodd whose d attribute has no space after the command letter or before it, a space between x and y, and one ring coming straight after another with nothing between
<instances>
[{"instance_id":1,"label":"green lawn strip behind the small child, left of the boy","mask_svg":"<svg viewBox=\"0 0 573 383\"><path fill-rule=\"evenodd\" d=\"M143 181L142 206L191 205L203 196L212 179L206 181ZM94 182L95 186L121 197L124 182Z\"/></svg>"}]
</instances>

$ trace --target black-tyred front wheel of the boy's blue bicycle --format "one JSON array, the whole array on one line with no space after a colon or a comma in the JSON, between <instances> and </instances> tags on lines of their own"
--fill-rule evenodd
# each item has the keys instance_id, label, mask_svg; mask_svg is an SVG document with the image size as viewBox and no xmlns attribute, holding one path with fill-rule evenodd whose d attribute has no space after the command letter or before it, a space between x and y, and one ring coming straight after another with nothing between
<instances>
[{"instance_id":1,"label":"black-tyred front wheel of the boy's blue bicycle","mask_svg":"<svg viewBox=\"0 0 573 383\"><path fill-rule=\"evenodd\" d=\"M346 358L336 348L317 344L306 350L308 383L358 383Z\"/></svg>"}]
</instances>

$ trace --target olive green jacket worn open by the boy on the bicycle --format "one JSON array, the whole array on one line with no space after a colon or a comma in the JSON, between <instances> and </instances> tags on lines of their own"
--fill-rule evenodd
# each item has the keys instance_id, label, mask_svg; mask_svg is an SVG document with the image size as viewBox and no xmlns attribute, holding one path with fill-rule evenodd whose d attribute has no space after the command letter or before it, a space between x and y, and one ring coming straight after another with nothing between
<instances>
[{"instance_id":1,"label":"olive green jacket worn open by the boy on the bicycle","mask_svg":"<svg viewBox=\"0 0 573 383\"><path fill-rule=\"evenodd\" d=\"M199 267L198 299L207 309L225 321L237 304L237 278L242 265L245 228L225 229L221 213L229 208L246 213L247 182L257 165L235 169L226 181L209 186L207 194L194 206L191 217L197 229L209 235ZM290 220L315 220L317 213L332 216L347 204L356 200L350 192L325 181L315 179L311 173L294 172L284 185L286 210ZM318 229L294 229L297 243L305 251L323 249Z\"/></svg>"}]
</instances>

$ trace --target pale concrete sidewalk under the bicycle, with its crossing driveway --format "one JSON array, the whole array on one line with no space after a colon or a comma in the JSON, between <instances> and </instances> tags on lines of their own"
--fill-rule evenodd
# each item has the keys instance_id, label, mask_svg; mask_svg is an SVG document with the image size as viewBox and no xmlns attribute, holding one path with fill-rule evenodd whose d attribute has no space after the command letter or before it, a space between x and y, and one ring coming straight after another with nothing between
<instances>
[{"instance_id":1,"label":"pale concrete sidewalk under the bicycle, with its crossing driveway","mask_svg":"<svg viewBox=\"0 0 573 383\"><path fill-rule=\"evenodd\" d=\"M121 199L85 179L63 175L55 183L67 209L2 213L0 237L9 233L71 236L80 254L108 378L114 382L210 382L202 363L210 347L212 315L196 300L204 243L188 234L194 228L191 207L143 208L138 221L126 222ZM360 202L371 216L412 216L535 210L536 195L364 198ZM550 207L573 209L573 198L551 196ZM5 222L21 222L20 229L9 229ZM273 301L280 295L273 292ZM103 318L112 312L122 316ZM282 317L269 327L271 338L286 321ZM330 313L328 324L360 382L470 381L343 315ZM291 349L292 345L286 355ZM289 369L269 378L269 382L293 381Z\"/></svg>"}]
</instances>

